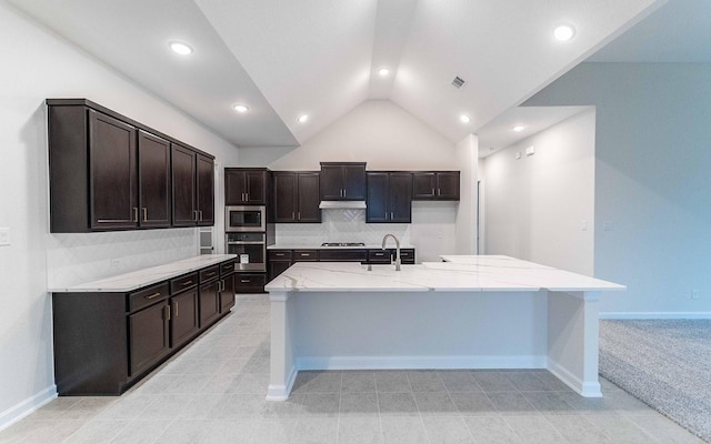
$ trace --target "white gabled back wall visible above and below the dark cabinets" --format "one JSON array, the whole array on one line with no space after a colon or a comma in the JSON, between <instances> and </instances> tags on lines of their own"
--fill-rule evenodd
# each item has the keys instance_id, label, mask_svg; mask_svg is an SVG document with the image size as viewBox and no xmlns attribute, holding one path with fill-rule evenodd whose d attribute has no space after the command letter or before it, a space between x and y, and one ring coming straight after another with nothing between
<instances>
[{"instance_id":1,"label":"white gabled back wall visible above and below the dark cabinets","mask_svg":"<svg viewBox=\"0 0 711 444\"><path fill-rule=\"evenodd\" d=\"M463 170L455 147L387 100L363 102L303 145L240 149L243 165L271 170L320 170L319 162L367 162L368 170ZM277 242L371 241L394 232L415 245L417 260L455 252L460 204L413 202L412 223L367 224L364 211L326 210L321 224L277 224Z\"/></svg>"}]
</instances>

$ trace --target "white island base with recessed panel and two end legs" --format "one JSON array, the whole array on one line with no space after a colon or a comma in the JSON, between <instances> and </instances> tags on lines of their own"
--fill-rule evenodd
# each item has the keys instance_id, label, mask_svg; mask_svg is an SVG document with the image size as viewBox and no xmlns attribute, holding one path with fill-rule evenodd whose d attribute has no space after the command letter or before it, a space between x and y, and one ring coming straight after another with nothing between
<instances>
[{"instance_id":1,"label":"white island base with recessed panel and two end legs","mask_svg":"<svg viewBox=\"0 0 711 444\"><path fill-rule=\"evenodd\" d=\"M272 291L267 398L299 370L549 369L587 397L598 382L598 292Z\"/></svg>"}]
</instances>

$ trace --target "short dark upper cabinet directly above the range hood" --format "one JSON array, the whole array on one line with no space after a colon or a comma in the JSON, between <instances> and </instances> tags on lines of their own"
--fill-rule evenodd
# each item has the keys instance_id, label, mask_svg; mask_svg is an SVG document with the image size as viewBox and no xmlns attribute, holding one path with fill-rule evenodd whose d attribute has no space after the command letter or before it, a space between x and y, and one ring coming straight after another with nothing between
<instances>
[{"instance_id":1,"label":"short dark upper cabinet directly above the range hood","mask_svg":"<svg viewBox=\"0 0 711 444\"><path fill-rule=\"evenodd\" d=\"M321 162L321 200L365 200L365 163Z\"/></svg>"}]
</instances>

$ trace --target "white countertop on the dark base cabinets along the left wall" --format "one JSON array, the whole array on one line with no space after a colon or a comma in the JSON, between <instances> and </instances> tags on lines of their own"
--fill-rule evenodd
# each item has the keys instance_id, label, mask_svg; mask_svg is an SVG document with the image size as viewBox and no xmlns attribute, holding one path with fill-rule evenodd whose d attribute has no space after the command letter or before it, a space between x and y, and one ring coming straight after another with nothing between
<instances>
[{"instance_id":1,"label":"white countertop on the dark base cabinets along the left wall","mask_svg":"<svg viewBox=\"0 0 711 444\"><path fill-rule=\"evenodd\" d=\"M163 265L151 266L131 273L119 274L99 281L87 282L67 289L49 289L51 293L80 293L80 292L129 292L141 286L167 281L181 274L204 269L237 258L237 254L203 254L181 261L170 262Z\"/></svg>"}]
</instances>

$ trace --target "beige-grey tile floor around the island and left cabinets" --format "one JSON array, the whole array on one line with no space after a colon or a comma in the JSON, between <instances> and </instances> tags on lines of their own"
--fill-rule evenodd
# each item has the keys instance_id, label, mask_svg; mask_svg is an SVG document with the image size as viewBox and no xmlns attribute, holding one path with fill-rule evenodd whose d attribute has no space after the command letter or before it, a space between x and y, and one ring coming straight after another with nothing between
<instances>
[{"instance_id":1,"label":"beige-grey tile floor around the island and left cabinets","mask_svg":"<svg viewBox=\"0 0 711 444\"><path fill-rule=\"evenodd\" d=\"M603 381L584 398L547 371L301 372L267 402L269 303L233 313L120 397L59 397L7 443L702 443Z\"/></svg>"}]
</instances>

